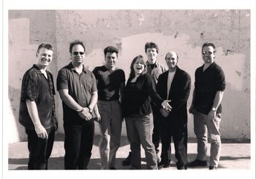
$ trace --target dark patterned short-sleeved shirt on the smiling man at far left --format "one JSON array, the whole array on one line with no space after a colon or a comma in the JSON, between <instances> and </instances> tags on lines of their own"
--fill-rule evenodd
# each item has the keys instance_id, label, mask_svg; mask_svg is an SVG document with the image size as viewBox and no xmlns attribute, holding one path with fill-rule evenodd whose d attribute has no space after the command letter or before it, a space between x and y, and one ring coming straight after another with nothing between
<instances>
[{"instance_id":1,"label":"dark patterned short-sleeved shirt on the smiling man at far left","mask_svg":"<svg viewBox=\"0 0 256 179\"><path fill-rule=\"evenodd\" d=\"M46 71L48 79L33 65L23 76L20 95L19 122L26 129L34 130L34 124L26 106L26 100L34 101L37 105L39 120L45 129L57 124L55 114L53 76Z\"/></svg>"}]
</instances>

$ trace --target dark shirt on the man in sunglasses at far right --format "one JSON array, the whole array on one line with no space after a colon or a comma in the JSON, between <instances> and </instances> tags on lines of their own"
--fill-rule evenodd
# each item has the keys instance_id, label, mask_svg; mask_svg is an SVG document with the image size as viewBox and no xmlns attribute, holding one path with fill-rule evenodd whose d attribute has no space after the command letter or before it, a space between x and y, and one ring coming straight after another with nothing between
<instances>
[{"instance_id":1,"label":"dark shirt on the man in sunglasses at far right","mask_svg":"<svg viewBox=\"0 0 256 179\"><path fill-rule=\"evenodd\" d=\"M224 91L226 87L225 75L222 68L215 62L205 71L203 66L195 71L195 109L208 114L214 104L217 91ZM217 114L222 113L222 105L217 108Z\"/></svg>"}]
</instances>

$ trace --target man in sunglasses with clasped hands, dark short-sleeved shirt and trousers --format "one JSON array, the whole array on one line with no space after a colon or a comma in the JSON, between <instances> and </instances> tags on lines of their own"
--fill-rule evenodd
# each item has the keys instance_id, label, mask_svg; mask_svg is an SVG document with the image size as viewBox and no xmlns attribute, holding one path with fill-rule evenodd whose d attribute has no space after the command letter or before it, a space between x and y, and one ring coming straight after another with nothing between
<instances>
[{"instance_id":1,"label":"man in sunglasses with clasped hands, dark short-sleeved shirt and trousers","mask_svg":"<svg viewBox=\"0 0 256 179\"><path fill-rule=\"evenodd\" d=\"M85 51L82 41L72 41L69 45L71 63L61 68L57 77L63 106L66 170L87 169L94 140L91 112L98 95L94 74L83 65Z\"/></svg>"}]
</instances>

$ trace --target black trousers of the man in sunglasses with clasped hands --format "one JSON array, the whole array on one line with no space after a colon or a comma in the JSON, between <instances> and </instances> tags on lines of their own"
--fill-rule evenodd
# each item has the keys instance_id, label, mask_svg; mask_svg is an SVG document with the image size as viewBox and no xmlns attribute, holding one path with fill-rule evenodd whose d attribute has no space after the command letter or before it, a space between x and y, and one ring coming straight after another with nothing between
<instances>
[{"instance_id":1,"label":"black trousers of the man in sunglasses with clasped hands","mask_svg":"<svg viewBox=\"0 0 256 179\"><path fill-rule=\"evenodd\" d=\"M94 142L94 121L78 125L64 123L64 132L65 169L87 169Z\"/></svg>"}]
</instances>

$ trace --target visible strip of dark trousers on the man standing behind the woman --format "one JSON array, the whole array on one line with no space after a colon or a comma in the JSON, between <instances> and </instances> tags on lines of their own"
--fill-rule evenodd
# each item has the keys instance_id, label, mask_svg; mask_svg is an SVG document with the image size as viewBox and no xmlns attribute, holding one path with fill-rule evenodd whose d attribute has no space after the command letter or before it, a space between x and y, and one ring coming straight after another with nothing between
<instances>
[{"instance_id":1,"label":"visible strip of dark trousers on the man standing behind the woman","mask_svg":"<svg viewBox=\"0 0 256 179\"><path fill-rule=\"evenodd\" d=\"M159 143L161 140L161 135L160 135L160 127L161 127L161 122L160 119L162 118L161 114L159 113L159 109L157 109L153 104L151 104L151 108L153 111L153 122L154 122L154 128L153 128L153 135L152 135L152 140L154 143L154 148L156 149L156 152L159 152Z\"/></svg>"}]
</instances>

